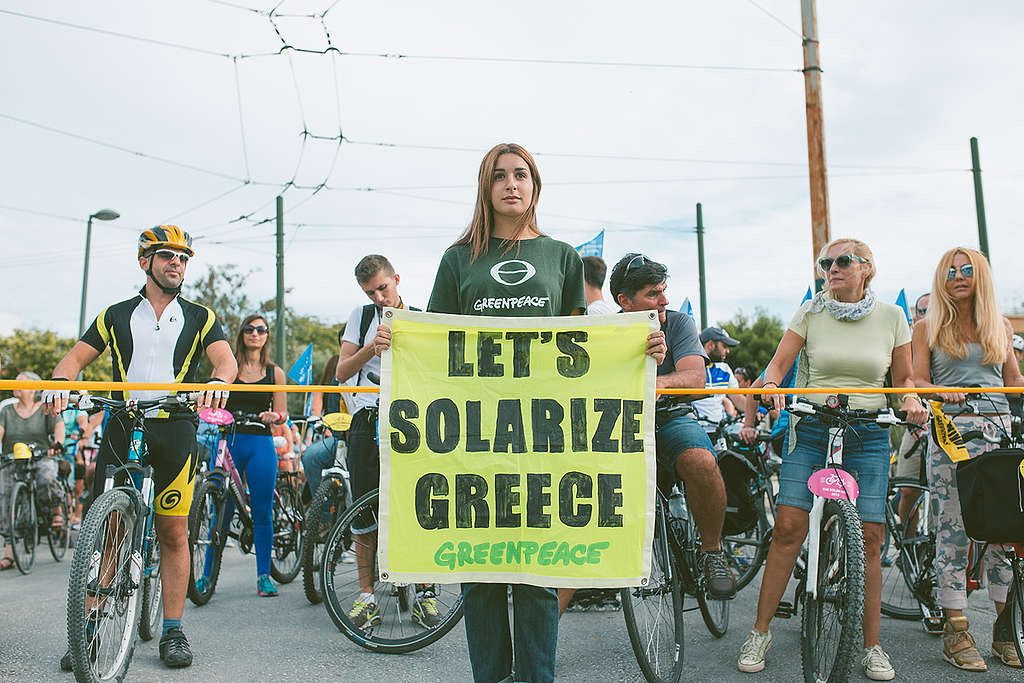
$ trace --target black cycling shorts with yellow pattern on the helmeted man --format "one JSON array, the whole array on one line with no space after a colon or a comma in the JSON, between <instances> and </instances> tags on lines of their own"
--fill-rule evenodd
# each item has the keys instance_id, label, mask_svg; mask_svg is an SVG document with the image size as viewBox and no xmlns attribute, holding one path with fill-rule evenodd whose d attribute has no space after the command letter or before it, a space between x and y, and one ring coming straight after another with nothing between
<instances>
[{"instance_id":1,"label":"black cycling shorts with yellow pattern on the helmeted man","mask_svg":"<svg viewBox=\"0 0 1024 683\"><path fill-rule=\"evenodd\" d=\"M148 451L146 464L153 466L155 497L153 509L158 515L188 516L193 488L199 470L195 418L151 418L145 421L142 440ZM103 440L96 456L92 476L93 500L103 493L106 466L122 465L128 459L128 439L132 423L126 417L112 417L106 422Z\"/></svg>"}]
</instances>

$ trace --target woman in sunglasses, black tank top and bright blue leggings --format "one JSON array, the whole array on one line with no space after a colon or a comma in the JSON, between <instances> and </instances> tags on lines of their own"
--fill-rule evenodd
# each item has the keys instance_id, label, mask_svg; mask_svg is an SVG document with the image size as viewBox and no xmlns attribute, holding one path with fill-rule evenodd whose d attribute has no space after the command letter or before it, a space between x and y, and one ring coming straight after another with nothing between
<instances>
[{"instance_id":1,"label":"woman in sunglasses, black tank top and bright blue leggings","mask_svg":"<svg viewBox=\"0 0 1024 683\"><path fill-rule=\"evenodd\" d=\"M234 357L239 362L239 384L285 384L285 371L270 361L267 340L270 336L266 321L259 313L247 315L234 338ZM261 427L238 425L228 447L239 472L249 484L253 515L253 545L256 548L256 594L268 598L278 595L270 581L270 552L273 550L273 486L278 480L278 454L273 446L270 425L283 425L288 420L283 391L232 391L227 398L228 411L259 415ZM271 410L272 409L272 410ZM224 514L234 513L234 503L227 497ZM207 555L208 561L212 555ZM207 567L209 569L209 567ZM205 577L198 581L204 581ZM198 582L197 582L198 583Z\"/></svg>"}]
</instances>

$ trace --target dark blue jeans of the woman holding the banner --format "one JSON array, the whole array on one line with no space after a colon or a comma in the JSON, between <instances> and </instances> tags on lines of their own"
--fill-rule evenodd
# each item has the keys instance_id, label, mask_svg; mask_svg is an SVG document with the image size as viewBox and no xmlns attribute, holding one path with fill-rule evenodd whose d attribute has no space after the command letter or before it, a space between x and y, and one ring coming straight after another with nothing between
<instances>
[{"instance_id":1,"label":"dark blue jeans of the woman holding the banner","mask_svg":"<svg viewBox=\"0 0 1024 683\"><path fill-rule=\"evenodd\" d=\"M463 584L466 641L476 683L555 679L558 594L553 588L512 584L515 638L509 629L506 584ZM514 650L514 656L513 656ZM515 663L515 676L512 665Z\"/></svg>"}]
</instances>

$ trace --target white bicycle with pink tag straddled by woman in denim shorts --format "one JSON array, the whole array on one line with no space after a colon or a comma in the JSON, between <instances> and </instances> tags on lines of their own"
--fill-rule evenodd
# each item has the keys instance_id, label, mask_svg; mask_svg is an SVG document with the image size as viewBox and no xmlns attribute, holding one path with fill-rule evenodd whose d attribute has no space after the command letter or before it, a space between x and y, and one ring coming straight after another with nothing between
<instances>
[{"instance_id":1,"label":"white bicycle with pink tag straddled by woman in denim shorts","mask_svg":"<svg viewBox=\"0 0 1024 683\"><path fill-rule=\"evenodd\" d=\"M825 465L807 481L814 495L807 539L797 558L798 585L792 602L780 602L775 615L788 618L803 603L801 664L804 680L845 681L860 652L864 612L864 533L854 503L856 479L843 465L843 439L857 423L905 424L902 411L858 411L845 394L828 396L823 405L798 399L794 416L815 416L828 427Z\"/></svg>"}]
</instances>

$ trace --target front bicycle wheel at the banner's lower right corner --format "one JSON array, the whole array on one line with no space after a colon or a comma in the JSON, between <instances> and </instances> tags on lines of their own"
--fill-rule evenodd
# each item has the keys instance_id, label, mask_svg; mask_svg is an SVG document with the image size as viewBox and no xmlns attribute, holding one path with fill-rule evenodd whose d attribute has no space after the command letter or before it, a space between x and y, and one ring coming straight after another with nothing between
<instances>
[{"instance_id":1,"label":"front bicycle wheel at the banner's lower right corner","mask_svg":"<svg viewBox=\"0 0 1024 683\"><path fill-rule=\"evenodd\" d=\"M660 499L655 515L647 586L624 588L620 596L626 632L644 679L648 683L677 683L683 674L683 587L679 571L670 565L672 551ZM665 637L660 637L662 631ZM652 647L657 651L651 651Z\"/></svg>"}]
</instances>

